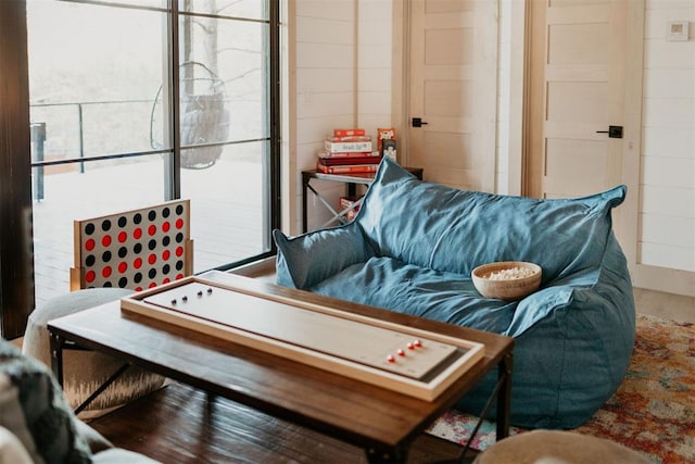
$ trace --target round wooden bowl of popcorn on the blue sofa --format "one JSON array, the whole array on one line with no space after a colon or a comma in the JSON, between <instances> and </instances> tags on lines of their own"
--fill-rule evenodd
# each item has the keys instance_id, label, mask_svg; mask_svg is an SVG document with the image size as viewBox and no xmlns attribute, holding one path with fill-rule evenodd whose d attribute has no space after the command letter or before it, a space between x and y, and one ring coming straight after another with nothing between
<instances>
[{"instance_id":1,"label":"round wooden bowl of popcorn on the blue sofa","mask_svg":"<svg viewBox=\"0 0 695 464\"><path fill-rule=\"evenodd\" d=\"M519 300L541 286L541 266L525 261L500 261L476 267L470 277L485 298Z\"/></svg>"}]
</instances>

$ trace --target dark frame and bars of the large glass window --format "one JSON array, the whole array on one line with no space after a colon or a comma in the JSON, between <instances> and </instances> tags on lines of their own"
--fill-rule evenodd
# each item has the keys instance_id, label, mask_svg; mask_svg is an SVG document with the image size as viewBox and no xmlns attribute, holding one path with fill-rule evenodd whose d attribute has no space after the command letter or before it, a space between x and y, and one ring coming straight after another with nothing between
<instances>
[{"instance_id":1,"label":"dark frame and bars of the large glass window","mask_svg":"<svg viewBox=\"0 0 695 464\"><path fill-rule=\"evenodd\" d=\"M12 47L0 49L0 70L9 76L16 88L24 89L11 96L12 100L18 99L16 104L10 103L10 96L0 93L0 117L13 122L14 136L9 137L0 133L7 141L0 143L0 204L9 203L11 208L0 208L0 220L5 231L0 231L0 331L5 338L20 337L26 328L28 314L35 305L34 298L34 237L30 227L22 227L17 223L17 215L31 212L31 172L35 168L74 163L90 163L103 160L123 158L148 156L156 153L166 154L164 173L164 200L180 198L181 190L181 145L179 138L180 104L179 104L179 20L182 15L217 17L207 13L191 13L179 10L178 0L168 0L167 8L153 8L143 5L128 5L123 2L103 2L99 0L63 0L75 3L98 4L111 8L128 8L137 10L159 11L167 14L167 62L168 66L168 104L169 130L172 148L163 150L148 150L137 153L116 153L94 155L88 158L71 158L53 161L33 161L30 155L30 129L29 129L29 91L28 91L28 47L26 25L26 0L10 0L0 2L0 42L10 43ZM280 201L280 0L267 0L268 15L265 20L254 20L265 23L268 27L268 48L265 50L268 61L268 75L265 95L267 96L267 137L253 140L228 141L214 145L232 145L244 141L263 141L267 143L267 156L264 154L264 179L267 188L264 190L264 240L263 251L258 254L245 256L242 260L216 266L216 269L229 271L255 261L261 261L276 254L276 247L271 240L271 230L280 227L281 201ZM233 16L219 15L223 18L236 18ZM8 40L4 40L4 39ZM24 58L22 62L21 58ZM9 74L5 74L9 73ZM5 77L3 77L5 78ZM197 146L198 147L198 146ZM184 148L186 150L186 148ZM267 160L267 161L266 161ZM4 168L4 167L8 168ZM30 217L30 215L29 215ZM9 226L4 226L9 224ZM29 247L16 247L17 237L27 240ZM28 272L26 269L29 269ZM21 279L17 283L17 269L31 278ZM66 269L67 273L67 269Z\"/></svg>"}]
</instances>

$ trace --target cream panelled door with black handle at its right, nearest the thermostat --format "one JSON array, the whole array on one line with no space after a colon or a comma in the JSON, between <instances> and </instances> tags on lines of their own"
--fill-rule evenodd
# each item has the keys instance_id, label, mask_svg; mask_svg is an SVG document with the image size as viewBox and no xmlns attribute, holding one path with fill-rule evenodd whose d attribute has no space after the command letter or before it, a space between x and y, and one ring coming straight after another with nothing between
<instances>
[{"instance_id":1,"label":"cream panelled door with black handle at its right, nearest the thermostat","mask_svg":"<svg viewBox=\"0 0 695 464\"><path fill-rule=\"evenodd\" d=\"M529 196L622 183L628 1L532 2Z\"/></svg>"}]
</instances>

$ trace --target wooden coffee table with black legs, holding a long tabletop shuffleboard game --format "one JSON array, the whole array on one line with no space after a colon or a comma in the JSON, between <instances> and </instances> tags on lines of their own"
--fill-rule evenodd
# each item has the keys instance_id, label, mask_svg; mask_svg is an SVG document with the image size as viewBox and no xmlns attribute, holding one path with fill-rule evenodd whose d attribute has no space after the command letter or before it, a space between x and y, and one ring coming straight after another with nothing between
<instances>
[{"instance_id":1,"label":"wooden coffee table with black legs, holding a long tabletop shuffleboard game","mask_svg":"<svg viewBox=\"0 0 695 464\"><path fill-rule=\"evenodd\" d=\"M497 369L508 435L513 339L210 272L49 323L67 343L403 462L410 443Z\"/></svg>"}]
</instances>

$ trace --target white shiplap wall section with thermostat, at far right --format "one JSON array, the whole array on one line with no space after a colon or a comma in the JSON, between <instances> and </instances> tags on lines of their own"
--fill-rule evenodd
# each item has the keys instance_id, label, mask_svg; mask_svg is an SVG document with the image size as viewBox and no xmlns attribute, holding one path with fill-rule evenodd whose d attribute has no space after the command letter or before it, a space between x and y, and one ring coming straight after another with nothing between
<instances>
[{"instance_id":1,"label":"white shiplap wall section with thermostat, at far right","mask_svg":"<svg viewBox=\"0 0 695 464\"><path fill-rule=\"evenodd\" d=\"M640 211L642 264L695 271L695 40L668 41L671 21L693 27L695 1L648 0L645 17Z\"/></svg>"}]
</instances>

